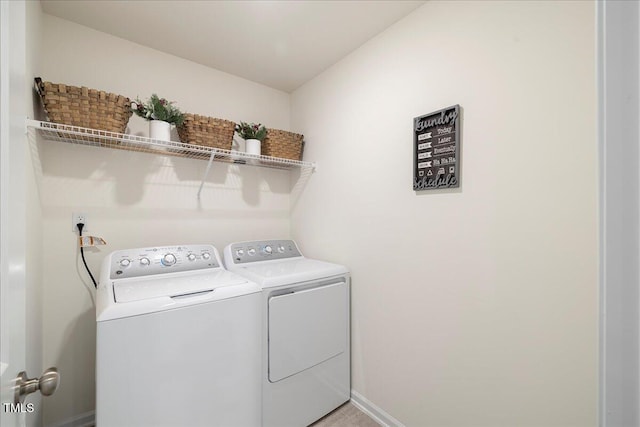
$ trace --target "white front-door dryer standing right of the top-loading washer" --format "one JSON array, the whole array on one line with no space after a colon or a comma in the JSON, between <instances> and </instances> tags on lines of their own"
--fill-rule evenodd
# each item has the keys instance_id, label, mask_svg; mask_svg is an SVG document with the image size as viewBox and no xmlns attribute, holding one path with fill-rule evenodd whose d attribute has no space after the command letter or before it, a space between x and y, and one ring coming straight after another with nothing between
<instances>
[{"instance_id":1,"label":"white front-door dryer standing right of the top-loading washer","mask_svg":"<svg viewBox=\"0 0 640 427\"><path fill-rule=\"evenodd\" d=\"M262 425L303 427L351 394L349 271L292 240L233 243L225 266L262 287Z\"/></svg>"}]
</instances>

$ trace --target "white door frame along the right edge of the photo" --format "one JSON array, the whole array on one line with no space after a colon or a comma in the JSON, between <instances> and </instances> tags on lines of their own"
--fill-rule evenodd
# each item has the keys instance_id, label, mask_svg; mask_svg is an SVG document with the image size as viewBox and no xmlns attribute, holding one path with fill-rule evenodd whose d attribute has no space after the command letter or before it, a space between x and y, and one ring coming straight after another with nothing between
<instances>
[{"instance_id":1,"label":"white door frame along the right edge of the photo","mask_svg":"<svg viewBox=\"0 0 640 427\"><path fill-rule=\"evenodd\" d=\"M640 425L640 5L597 1L599 402L602 427Z\"/></svg>"}]
</instances>

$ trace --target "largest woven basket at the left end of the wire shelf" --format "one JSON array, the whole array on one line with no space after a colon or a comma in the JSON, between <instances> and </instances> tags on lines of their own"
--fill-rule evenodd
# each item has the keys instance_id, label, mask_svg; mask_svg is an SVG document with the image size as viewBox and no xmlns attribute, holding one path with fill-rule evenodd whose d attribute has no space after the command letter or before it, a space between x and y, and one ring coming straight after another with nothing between
<instances>
[{"instance_id":1,"label":"largest woven basket at the left end of the wire shelf","mask_svg":"<svg viewBox=\"0 0 640 427\"><path fill-rule=\"evenodd\" d=\"M131 100L115 93L35 79L44 109L54 123L124 133Z\"/></svg>"}]
</instances>

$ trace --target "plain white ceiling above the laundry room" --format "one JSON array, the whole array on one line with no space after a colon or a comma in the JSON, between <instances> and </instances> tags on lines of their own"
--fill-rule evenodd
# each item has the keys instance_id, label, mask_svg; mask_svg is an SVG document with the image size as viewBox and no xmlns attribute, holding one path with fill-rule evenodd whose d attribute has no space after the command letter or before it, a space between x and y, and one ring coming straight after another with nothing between
<instances>
[{"instance_id":1,"label":"plain white ceiling above the laundry room","mask_svg":"<svg viewBox=\"0 0 640 427\"><path fill-rule=\"evenodd\" d=\"M45 13L291 92L424 1L41 3Z\"/></svg>"}]
</instances>

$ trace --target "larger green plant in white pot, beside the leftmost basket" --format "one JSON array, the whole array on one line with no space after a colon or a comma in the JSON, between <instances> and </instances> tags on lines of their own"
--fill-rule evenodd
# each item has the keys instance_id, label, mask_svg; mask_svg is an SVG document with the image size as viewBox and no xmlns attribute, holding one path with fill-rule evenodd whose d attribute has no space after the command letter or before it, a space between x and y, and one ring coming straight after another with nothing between
<instances>
[{"instance_id":1,"label":"larger green plant in white pot, beside the leftmost basket","mask_svg":"<svg viewBox=\"0 0 640 427\"><path fill-rule=\"evenodd\" d=\"M171 140L171 125L179 126L184 121L180 110L155 93L147 102L139 98L131 104L131 110L143 119L149 120L149 137L161 141Z\"/></svg>"}]
</instances>

